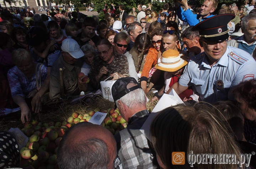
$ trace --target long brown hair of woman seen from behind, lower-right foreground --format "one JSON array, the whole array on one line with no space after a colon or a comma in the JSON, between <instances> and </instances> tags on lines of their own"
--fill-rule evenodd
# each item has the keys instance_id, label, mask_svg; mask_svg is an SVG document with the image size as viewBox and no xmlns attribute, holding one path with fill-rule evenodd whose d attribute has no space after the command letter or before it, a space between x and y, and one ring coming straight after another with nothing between
<instances>
[{"instance_id":1,"label":"long brown hair of woman seen from behind, lower-right foreground","mask_svg":"<svg viewBox=\"0 0 256 169\"><path fill-rule=\"evenodd\" d=\"M153 147L166 168L172 165L170 152L193 154L235 154L236 145L224 116L210 106L176 105L158 113L150 126ZM186 158L187 159L187 158ZM183 168L190 168L187 160ZM236 164L194 164L196 169L237 169Z\"/></svg>"}]
</instances>

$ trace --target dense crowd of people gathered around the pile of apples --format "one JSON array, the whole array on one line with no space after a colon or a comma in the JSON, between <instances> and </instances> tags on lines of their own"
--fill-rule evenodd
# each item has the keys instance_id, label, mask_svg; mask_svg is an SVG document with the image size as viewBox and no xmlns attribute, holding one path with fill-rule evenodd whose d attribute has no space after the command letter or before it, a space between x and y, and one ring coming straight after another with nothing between
<instances>
[{"instance_id":1,"label":"dense crowd of people gathered around the pile of apples","mask_svg":"<svg viewBox=\"0 0 256 169\"><path fill-rule=\"evenodd\" d=\"M205 0L197 9L177 0L174 8L138 4L129 13L123 4L105 4L101 20L78 8L41 16L29 9L2 11L0 108L20 107L25 123L49 100L73 100L101 89L101 81L116 80L111 93L127 128L113 137L88 122L71 127L58 148L60 169L167 169L177 168L172 152L255 152L255 2L220 7ZM145 95L153 92L153 103L172 89L185 104L158 112L149 140L140 131L150 115ZM253 169L255 162L252 156L248 166L194 167ZM187 160L183 167L190 168Z\"/></svg>"}]
</instances>

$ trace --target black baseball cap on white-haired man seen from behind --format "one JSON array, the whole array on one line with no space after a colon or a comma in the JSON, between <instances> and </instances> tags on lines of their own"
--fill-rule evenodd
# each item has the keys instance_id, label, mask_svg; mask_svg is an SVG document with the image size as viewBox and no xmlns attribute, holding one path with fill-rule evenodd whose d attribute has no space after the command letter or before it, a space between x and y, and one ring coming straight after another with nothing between
<instances>
[{"instance_id":1,"label":"black baseball cap on white-haired man seen from behind","mask_svg":"<svg viewBox=\"0 0 256 169\"><path fill-rule=\"evenodd\" d=\"M128 83L134 83L134 84L137 84L137 86L133 86L127 89ZM111 89L114 102L116 102L118 99L122 98L124 95L136 89L141 89L141 87L134 77L122 77L117 79L117 81L113 84Z\"/></svg>"}]
</instances>

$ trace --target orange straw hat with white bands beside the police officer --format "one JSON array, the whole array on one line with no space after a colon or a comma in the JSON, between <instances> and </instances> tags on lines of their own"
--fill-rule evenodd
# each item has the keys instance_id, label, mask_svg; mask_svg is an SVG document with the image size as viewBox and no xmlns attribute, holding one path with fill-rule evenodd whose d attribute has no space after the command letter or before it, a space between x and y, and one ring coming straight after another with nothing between
<instances>
[{"instance_id":1,"label":"orange straw hat with white bands beside the police officer","mask_svg":"<svg viewBox=\"0 0 256 169\"><path fill-rule=\"evenodd\" d=\"M173 49L169 49L162 54L161 62L156 65L156 69L175 72L187 65L187 61L181 58L182 54Z\"/></svg>"}]
</instances>

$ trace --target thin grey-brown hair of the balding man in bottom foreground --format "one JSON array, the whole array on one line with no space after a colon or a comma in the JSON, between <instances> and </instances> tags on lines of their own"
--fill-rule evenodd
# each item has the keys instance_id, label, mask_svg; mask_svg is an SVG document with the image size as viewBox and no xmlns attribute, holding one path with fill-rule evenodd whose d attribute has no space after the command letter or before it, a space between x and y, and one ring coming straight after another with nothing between
<instances>
[{"instance_id":1,"label":"thin grey-brown hair of the balding man in bottom foreground","mask_svg":"<svg viewBox=\"0 0 256 169\"><path fill-rule=\"evenodd\" d=\"M72 147L65 143L58 148L57 161L60 169L107 169L110 157L103 140L97 138L81 140Z\"/></svg>"}]
</instances>

